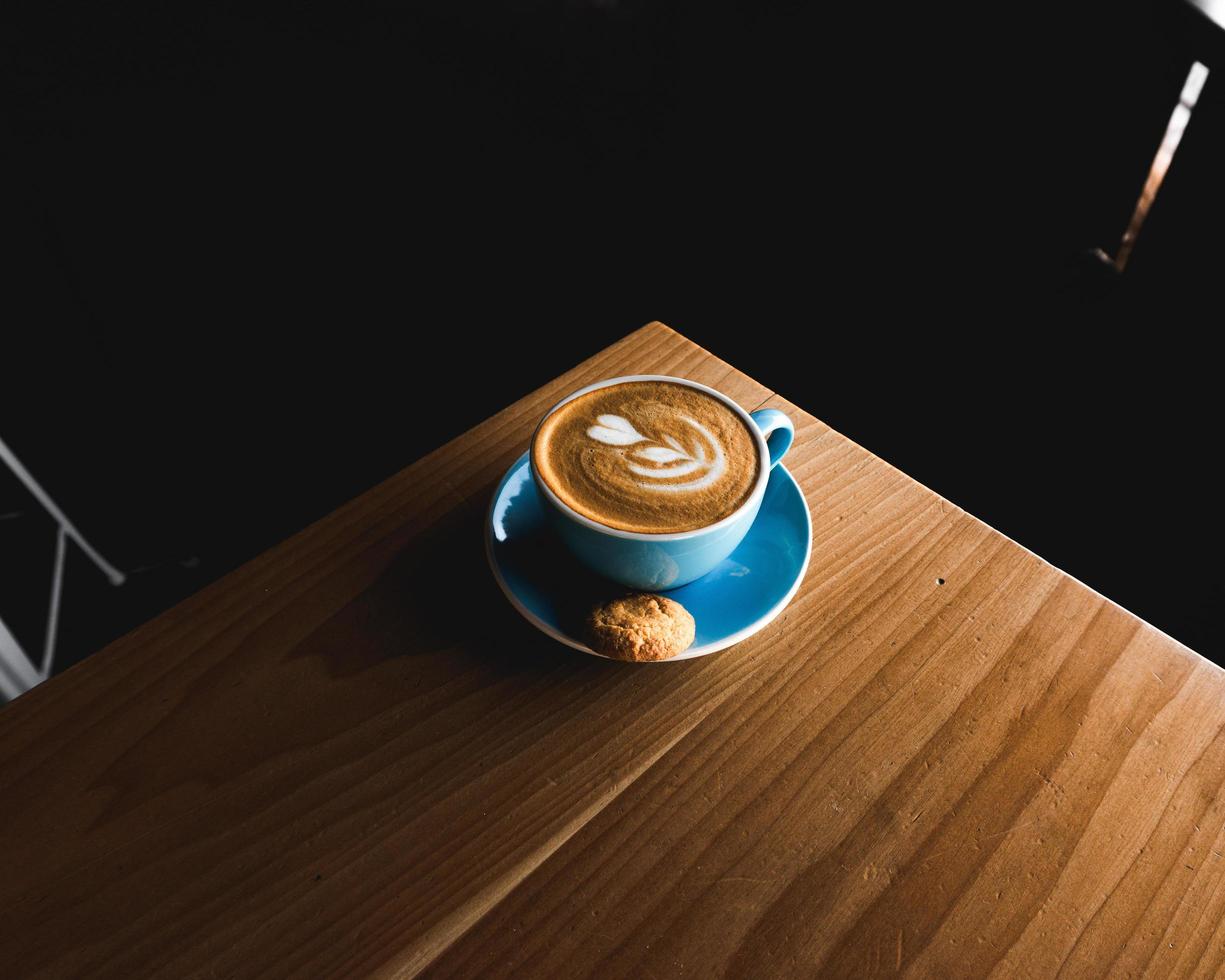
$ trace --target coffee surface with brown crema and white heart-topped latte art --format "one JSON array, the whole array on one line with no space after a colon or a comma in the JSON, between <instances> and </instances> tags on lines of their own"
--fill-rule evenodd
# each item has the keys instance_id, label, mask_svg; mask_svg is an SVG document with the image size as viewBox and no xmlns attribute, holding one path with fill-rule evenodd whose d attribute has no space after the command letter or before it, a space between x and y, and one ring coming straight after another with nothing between
<instances>
[{"instance_id":1,"label":"coffee surface with brown crema and white heart-topped latte art","mask_svg":"<svg viewBox=\"0 0 1225 980\"><path fill-rule=\"evenodd\" d=\"M625 381L549 415L532 441L532 466L583 517L669 534L734 513L761 461L747 424L718 398L670 381Z\"/></svg>"}]
</instances>

